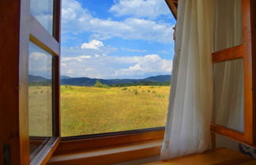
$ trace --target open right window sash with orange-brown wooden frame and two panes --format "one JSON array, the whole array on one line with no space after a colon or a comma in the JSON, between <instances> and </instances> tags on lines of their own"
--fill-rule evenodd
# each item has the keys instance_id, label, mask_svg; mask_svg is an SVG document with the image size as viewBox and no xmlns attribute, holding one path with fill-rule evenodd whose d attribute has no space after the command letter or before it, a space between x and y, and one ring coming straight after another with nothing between
<instances>
[{"instance_id":1,"label":"open right window sash with orange-brown wooden frame and two panes","mask_svg":"<svg viewBox=\"0 0 256 165\"><path fill-rule=\"evenodd\" d=\"M216 51L213 53L216 96L212 130L252 145L255 144L253 77L251 76L254 73L251 68L251 62L254 62L251 51L254 37L250 36L250 33L255 29L252 28L249 17L250 1L226 0L216 1L216 3L219 3L220 7L216 8L216 36L215 47L213 47ZM218 19L219 17L234 19ZM225 22L226 20L228 23ZM237 88L233 88L233 85ZM221 90L228 95L220 94ZM235 100L237 96L239 100ZM223 118L225 116L226 118ZM230 117L227 118L227 116Z\"/></svg>"}]
</instances>

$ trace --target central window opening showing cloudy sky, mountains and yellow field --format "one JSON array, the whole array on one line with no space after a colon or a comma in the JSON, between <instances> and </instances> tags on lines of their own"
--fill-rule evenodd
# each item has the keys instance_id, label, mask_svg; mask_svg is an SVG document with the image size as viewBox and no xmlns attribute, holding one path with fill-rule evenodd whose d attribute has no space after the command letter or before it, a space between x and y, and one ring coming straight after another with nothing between
<instances>
[{"instance_id":1,"label":"central window opening showing cloudy sky, mountains and yellow field","mask_svg":"<svg viewBox=\"0 0 256 165\"><path fill-rule=\"evenodd\" d=\"M62 137L165 126L175 19L139 3L62 1Z\"/></svg>"}]
</instances>

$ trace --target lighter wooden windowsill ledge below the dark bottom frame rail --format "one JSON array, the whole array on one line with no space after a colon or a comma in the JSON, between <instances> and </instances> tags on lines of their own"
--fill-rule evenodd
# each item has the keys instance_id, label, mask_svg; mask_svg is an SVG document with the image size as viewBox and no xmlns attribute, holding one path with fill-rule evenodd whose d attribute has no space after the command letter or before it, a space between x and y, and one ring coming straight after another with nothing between
<instances>
[{"instance_id":1,"label":"lighter wooden windowsill ledge below the dark bottom frame rail","mask_svg":"<svg viewBox=\"0 0 256 165\"><path fill-rule=\"evenodd\" d=\"M48 165L104 165L160 155L162 139L53 156Z\"/></svg>"}]
</instances>

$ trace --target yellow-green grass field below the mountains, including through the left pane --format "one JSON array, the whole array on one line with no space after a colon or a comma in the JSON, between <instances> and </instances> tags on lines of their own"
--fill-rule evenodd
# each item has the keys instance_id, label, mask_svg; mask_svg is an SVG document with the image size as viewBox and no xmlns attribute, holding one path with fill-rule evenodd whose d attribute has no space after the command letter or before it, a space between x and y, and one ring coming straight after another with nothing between
<instances>
[{"instance_id":1,"label":"yellow-green grass field below the mountains, including through the left pane","mask_svg":"<svg viewBox=\"0 0 256 165\"><path fill-rule=\"evenodd\" d=\"M165 126L170 87L61 86L62 137ZM30 86L29 133L51 136L51 87Z\"/></svg>"}]
</instances>

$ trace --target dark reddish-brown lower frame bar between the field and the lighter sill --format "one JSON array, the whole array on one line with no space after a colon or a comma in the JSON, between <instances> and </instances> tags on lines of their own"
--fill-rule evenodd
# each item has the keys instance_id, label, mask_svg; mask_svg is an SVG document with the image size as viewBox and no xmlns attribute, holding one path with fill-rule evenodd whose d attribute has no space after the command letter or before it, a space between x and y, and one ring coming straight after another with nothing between
<instances>
[{"instance_id":1,"label":"dark reddish-brown lower frame bar between the field and the lighter sill","mask_svg":"<svg viewBox=\"0 0 256 165\"><path fill-rule=\"evenodd\" d=\"M62 137L55 154L82 152L152 140L164 140L164 127L137 129L114 133L99 133L77 137Z\"/></svg>"}]
</instances>

